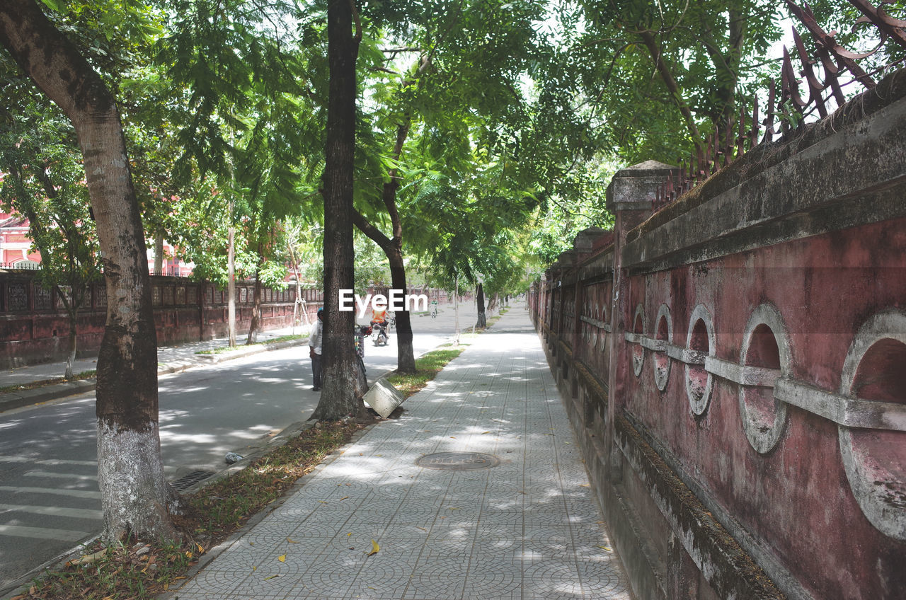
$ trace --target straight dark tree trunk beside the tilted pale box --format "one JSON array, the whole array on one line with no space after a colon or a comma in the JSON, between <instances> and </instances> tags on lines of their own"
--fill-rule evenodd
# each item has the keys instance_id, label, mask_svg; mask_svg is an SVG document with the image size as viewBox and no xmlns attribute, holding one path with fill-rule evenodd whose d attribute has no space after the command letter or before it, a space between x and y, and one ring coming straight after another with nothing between
<instances>
[{"instance_id":1,"label":"straight dark tree trunk beside the tilted pale box","mask_svg":"<svg viewBox=\"0 0 906 600\"><path fill-rule=\"evenodd\" d=\"M335 420L364 411L353 374L352 344L355 313L340 311L340 290L352 289L352 167L355 153L355 61L361 24L351 0L327 5L327 61L330 83L327 144L323 175L324 198L324 340L321 401L313 419Z\"/></svg>"}]
</instances>

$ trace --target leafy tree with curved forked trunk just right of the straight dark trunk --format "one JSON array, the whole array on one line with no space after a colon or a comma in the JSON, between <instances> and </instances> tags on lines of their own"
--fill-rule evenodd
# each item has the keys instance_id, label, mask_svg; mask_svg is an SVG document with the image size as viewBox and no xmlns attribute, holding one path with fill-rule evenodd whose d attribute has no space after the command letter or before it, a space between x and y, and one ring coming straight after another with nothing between
<instances>
[{"instance_id":1,"label":"leafy tree with curved forked trunk just right of the straight dark trunk","mask_svg":"<svg viewBox=\"0 0 906 600\"><path fill-rule=\"evenodd\" d=\"M416 227L431 223L421 218L413 202L420 181L407 175L427 161L443 165L455 177L457 169L474 158L470 130L521 119L519 77L535 52L535 25L544 16L545 4L414 2L404 16L384 5L371 15L391 33L379 40L386 47L378 46L368 56L371 63L362 65L372 77L375 105L366 129L378 131L375 143L381 160L364 160L367 166L359 180L380 184L361 186L353 218L388 257L393 288L407 290L404 233L409 235L411 229L406 221L418 223ZM412 54L414 60L398 64L399 55ZM397 370L414 372L408 311L397 313L397 344Z\"/></svg>"}]
</instances>

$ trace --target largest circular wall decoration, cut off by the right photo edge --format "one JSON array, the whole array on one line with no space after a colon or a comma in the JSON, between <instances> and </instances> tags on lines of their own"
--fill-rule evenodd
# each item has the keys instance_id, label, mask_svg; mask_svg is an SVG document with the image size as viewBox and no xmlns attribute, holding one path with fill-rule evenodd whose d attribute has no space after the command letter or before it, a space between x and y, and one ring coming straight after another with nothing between
<instances>
[{"instance_id":1,"label":"largest circular wall decoration, cut off by the right photo edge","mask_svg":"<svg viewBox=\"0 0 906 600\"><path fill-rule=\"evenodd\" d=\"M906 403L906 313L873 315L855 334L840 382L843 396ZM837 426L850 489L872 525L906 540L906 431Z\"/></svg>"}]
</instances>

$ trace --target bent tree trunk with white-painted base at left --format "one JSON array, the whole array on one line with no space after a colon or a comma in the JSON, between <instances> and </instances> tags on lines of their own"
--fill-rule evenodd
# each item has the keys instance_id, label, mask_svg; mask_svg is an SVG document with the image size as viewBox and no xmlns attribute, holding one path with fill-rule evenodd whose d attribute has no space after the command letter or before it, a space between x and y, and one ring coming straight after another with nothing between
<instances>
[{"instance_id":1,"label":"bent tree trunk with white-painted base at left","mask_svg":"<svg viewBox=\"0 0 906 600\"><path fill-rule=\"evenodd\" d=\"M34 0L0 3L0 44L72 121L103 251L107 326L98 356L98 484L104 534L176 537L158 427L148 258L120 113L101 77Z\"/></svg>"}]
</instances>

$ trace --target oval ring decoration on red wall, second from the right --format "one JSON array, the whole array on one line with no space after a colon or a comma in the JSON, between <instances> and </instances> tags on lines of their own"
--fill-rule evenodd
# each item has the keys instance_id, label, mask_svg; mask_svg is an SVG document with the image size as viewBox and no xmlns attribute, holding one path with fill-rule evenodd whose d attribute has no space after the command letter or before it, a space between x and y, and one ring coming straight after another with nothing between
<instances>
[{"instance_id":1,"label":"oval ring decoration on red wall, second from the right","mask_svg":"<svg viewBox=\"0 0 906 600\"><path fill-rule=\"evenodd\" d=\"M793 357L789 334L774 305L759 305L748 317L739 363L790 372ZM773 449L786 427L786 402L774 397L774 386L739 385L739 413L748 443L764 454Z\"/></svg>"}]
</instances>

